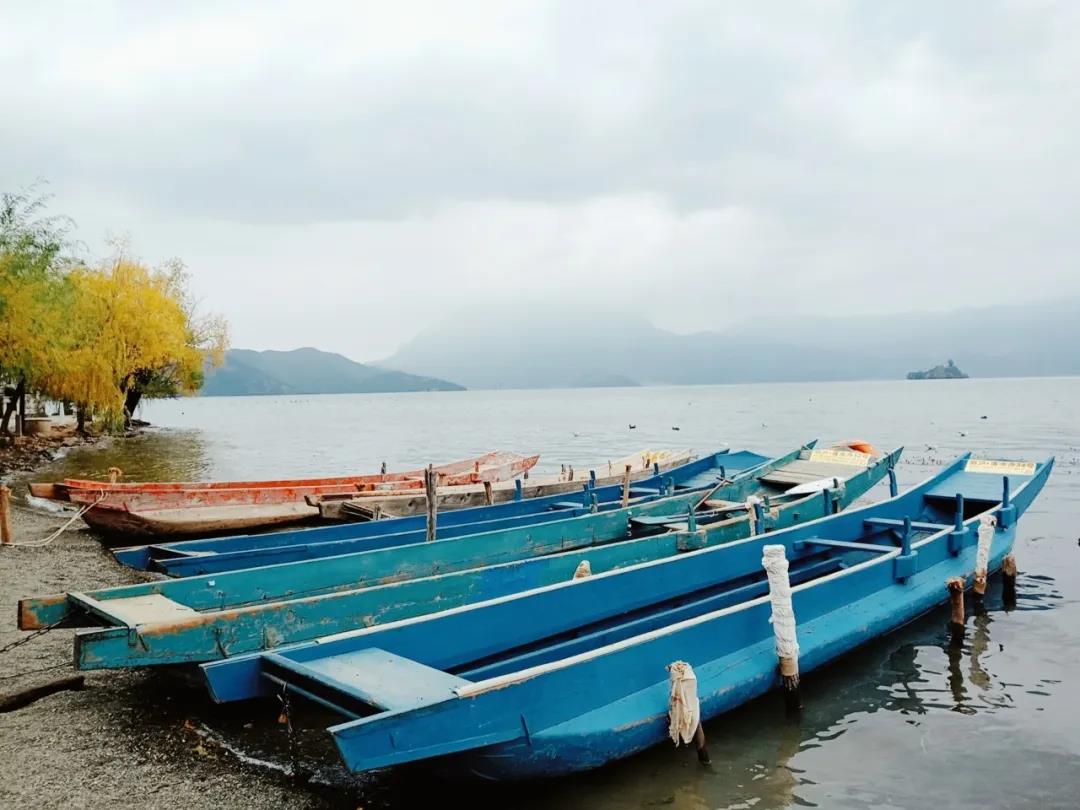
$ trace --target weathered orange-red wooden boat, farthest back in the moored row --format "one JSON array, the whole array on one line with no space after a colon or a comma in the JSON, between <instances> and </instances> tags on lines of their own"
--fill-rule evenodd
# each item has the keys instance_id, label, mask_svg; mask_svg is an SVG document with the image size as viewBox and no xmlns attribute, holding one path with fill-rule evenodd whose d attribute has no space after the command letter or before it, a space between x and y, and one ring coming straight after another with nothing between
<instances>
[{"instance_id":1,"label":"weathered orange-red wooden boat, farthest back in the moored row","mask_svg":"<svg viewBox=\"0 0 1080 810\"><path fill-rule=\"evenodd\" d=\"M464 486L514 478L539 456L488 453L434 468L440 486ZM407 492L423 488L423 470L370 475L282 481L120 483L67 478L31 484L39 498L83 508L93 528L110 534L201 535L262 528L318 517L308 496Z\"/></svg>"}]
</instances>

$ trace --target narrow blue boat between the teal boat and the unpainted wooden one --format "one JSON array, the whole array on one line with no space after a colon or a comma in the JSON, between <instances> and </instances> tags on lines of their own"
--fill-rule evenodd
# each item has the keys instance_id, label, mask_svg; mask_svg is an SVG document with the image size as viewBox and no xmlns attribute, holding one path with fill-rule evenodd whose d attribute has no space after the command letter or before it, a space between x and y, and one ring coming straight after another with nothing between
<instances>
[{"instance_id":1,"label":"narrow blue boat between the teal boat and the unpainted wooden one","mask_svg":"<svg viewBox=\"0 0 1080 810\"><path fill-rule=\"evenodd\" d=\"M812 447L813 443L807 446ZM713 486L729 474L734 475L768 460L766 456L746 450L714 453L634 482L629 494L630 500L637 503L658 498L661 489L674 495ZM583 476L577 486L579 491L572 496L557 494L537 498L523 497L490 507L472 507L441 513L436 519L436 535L438 539L445 540L576 517L589 512L593 500L598 510L607 511L615 508L622 497L621 484L605 486ZM112 554L118 562L133 568L189 577L365 551L378 548L375 542L377 538L410 531L418 532L415 539L423 540L424 536L420 532L424 532L426 527L427 516L414 515L366 523L312 526L269 535L239 535L135 545L114 549Z\"/></svg>"}]
</instances>

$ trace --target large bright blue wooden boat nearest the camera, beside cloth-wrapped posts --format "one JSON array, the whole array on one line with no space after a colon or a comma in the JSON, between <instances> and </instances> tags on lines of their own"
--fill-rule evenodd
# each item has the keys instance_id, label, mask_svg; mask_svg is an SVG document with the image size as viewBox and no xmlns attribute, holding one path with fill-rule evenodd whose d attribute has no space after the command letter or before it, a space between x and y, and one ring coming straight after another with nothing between
<instances>
[{"instance_id":1,"label":"large bright blue wooden boat nearest the camera, beside cloth-wrapped posts","mask_svg":"<svg viewBox=\"0 0 1080 810\"><path fill-rule=\"evenodd\" d=\"M765 545L789 561L806 673L946 600L946 579L974 570L984 517L997 521L984 531L998 569L1052 464L964 457L902 496L795 528L204 674L220 702L284 691L338 712L347 721L329 731L353 771L433 760L513 780L595 768L667 738L673 662L693 666L702 718L780 685Z\"/></svg>"}]
</instances>

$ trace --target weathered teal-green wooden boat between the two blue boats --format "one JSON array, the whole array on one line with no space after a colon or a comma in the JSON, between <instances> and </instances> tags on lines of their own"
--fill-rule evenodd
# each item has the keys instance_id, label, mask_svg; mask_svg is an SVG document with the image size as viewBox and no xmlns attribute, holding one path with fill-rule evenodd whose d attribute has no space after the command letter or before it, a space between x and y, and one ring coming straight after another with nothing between
<instances>
[{"instance_id":1,"label":"weathered teal-green wooden boat between the two blue boats","mask_svg":"<svg viewBox=\"0 0 1080 810\"><path fill-rule=\"evenodd\" d=\"M835 467L815 453L793 451L718 488L537 526L405 545L388 537L361 553L23 599L19 627L82 627L84 670L212 661L561 582L584 561L608 570L813 519L856 500L900 455L852 462L842 480L785 497L797 488L789 475ZM768 492L768 504L748 509L752 495ZM699 507L700 530L687 535Z\"/></svg>"}]
</instances>

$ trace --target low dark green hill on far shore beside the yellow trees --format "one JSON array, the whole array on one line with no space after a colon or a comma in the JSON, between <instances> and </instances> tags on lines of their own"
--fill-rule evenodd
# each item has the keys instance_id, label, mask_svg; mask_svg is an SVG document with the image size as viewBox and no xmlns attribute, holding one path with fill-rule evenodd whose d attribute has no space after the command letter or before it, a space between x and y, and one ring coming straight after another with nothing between
<instances>
[{"instance_id":1,"label":"low dark green hill on far shore beside the yellow trees","mask_svg":"<svg viewBox=\"0 0 1080 810\"><path fill-rule=\"evenodd\" d=\"M353 394L393 391L462 391L461 386L356 363L318 349L230 349L206 376L205 396L249 394Z\"/></svg>"}]
</instances>

